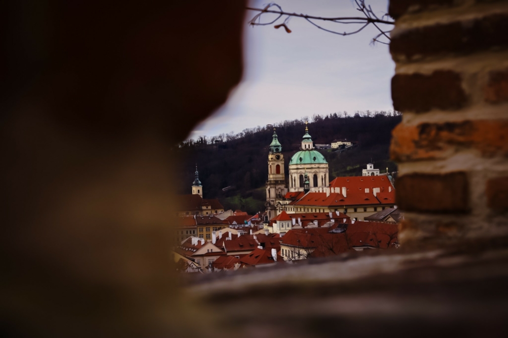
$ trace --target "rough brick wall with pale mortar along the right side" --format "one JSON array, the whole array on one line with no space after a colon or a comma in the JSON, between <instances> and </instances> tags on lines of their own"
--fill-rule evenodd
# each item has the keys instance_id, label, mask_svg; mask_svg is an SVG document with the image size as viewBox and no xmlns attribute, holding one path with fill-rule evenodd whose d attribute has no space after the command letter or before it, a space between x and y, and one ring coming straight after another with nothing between
<instances>
[{"instance_id":1,"label":"rough brick wall with pale mortar along the right side","mask_svg":"<svg viewBox=\"0 0 508 338\"><path fill-rule=\"evenodd\" d=\"M400 240L508 234L508 1L391 0Z\"/></svg>"}]
</instances>

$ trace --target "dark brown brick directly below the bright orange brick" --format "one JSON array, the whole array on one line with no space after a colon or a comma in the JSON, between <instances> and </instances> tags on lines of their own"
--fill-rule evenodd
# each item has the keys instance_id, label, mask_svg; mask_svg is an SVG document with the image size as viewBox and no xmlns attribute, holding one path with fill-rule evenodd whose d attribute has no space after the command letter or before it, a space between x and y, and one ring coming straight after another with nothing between
<instances>
[{"instance_id":1,"label":"dark brown brick directly below the bright orange brick","mask_svg":"<svg viewBox=\"0 0 508 338\"><path fill-rule=\"evenodd\" d=\"M397 205L409 212L466 213L468 183L464 172L410 174L395 182Z\"/></svg>"}]
</instances>

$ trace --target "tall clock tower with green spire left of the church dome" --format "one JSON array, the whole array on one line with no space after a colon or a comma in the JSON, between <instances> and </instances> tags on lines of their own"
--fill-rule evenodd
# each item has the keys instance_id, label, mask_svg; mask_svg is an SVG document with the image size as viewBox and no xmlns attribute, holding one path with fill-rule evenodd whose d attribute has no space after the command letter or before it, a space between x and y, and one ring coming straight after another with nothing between
<instances>
[{"instance_id":1,"label":"tall clock tower with green spire left of the church dome","mask_svg":"<svg viewBox=\"0 0 508 338\"><path fill-rule=\"evenodd\" d=\"M268 181L266 181L265 206L268 220L277 216L277 200L282 199L287 191L284 174L284 155L282 155L282 146L277 140L277 133L274 128L270 152L268 153Z\"/></svg>"}]
</instances>

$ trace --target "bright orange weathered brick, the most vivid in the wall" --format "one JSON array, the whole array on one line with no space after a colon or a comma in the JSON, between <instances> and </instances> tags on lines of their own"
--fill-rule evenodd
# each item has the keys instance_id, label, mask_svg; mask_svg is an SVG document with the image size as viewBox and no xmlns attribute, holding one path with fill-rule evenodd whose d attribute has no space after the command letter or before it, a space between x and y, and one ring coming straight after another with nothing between
<instances>
[{"instance_id":1,"label":"bright orange weathered brick, the most vivid in the wall","mask_svg":"<svg viewBox=\"0 0 508 338\"><path fill-rule=\"evenodd\" d=\"M395 161L446 158L463 148L482 156L508 155L507 120L399 124L392 132L390 154Z\"/></svg>"}]
</instances>

